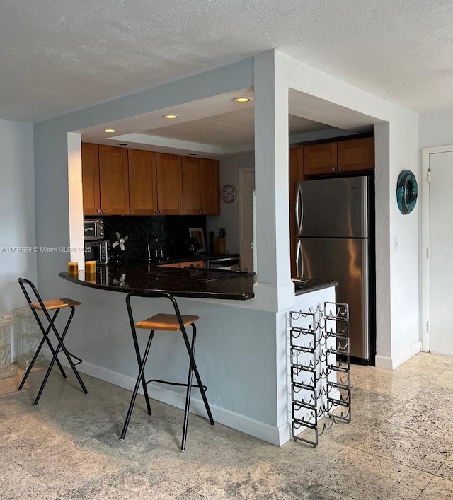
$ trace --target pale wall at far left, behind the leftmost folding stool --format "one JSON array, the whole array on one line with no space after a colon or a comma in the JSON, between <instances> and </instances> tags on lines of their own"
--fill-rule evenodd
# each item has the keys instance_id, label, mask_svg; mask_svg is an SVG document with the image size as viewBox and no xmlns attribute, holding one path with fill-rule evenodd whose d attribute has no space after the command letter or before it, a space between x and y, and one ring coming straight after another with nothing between
<instances>
[{"instance_id":1,"label":"pale wall at far left, behind the leftmost folding stool","mask_svg":"<svg viewBox=\"0 0 453 500\"><path fill-rule=\"evenodd\" d=\"M18 277L36 281L36 253L13 251L36 245L30 123L0 120L0 214L0 313L10 313L26 303ZM18 348L12 351L18 354Z\"/></svg>"}]
</instances>

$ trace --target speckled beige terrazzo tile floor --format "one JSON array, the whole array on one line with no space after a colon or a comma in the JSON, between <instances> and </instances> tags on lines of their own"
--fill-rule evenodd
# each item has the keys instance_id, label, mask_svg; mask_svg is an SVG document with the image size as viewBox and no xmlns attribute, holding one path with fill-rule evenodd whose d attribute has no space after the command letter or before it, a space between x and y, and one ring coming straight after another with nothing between
<instances>
[{"instance_id":1,"label":"speckled beige terrazzo tile floor","mask_svg":"<svg viewBox=\"0 0 453 500\"><path fill-rule=\"evenodd\" d=\"M20 376L23 372L18 372ZM453 358L420 353L395 371L352 366L352 422L311 448L277 448L139 397L57 371L34 407L42 370L19 392L0 380L0 499L453 499ZM142 411L140 411L142 410ZM149 421L151 419L151 422Z\"/></svg>"}]
</instances>

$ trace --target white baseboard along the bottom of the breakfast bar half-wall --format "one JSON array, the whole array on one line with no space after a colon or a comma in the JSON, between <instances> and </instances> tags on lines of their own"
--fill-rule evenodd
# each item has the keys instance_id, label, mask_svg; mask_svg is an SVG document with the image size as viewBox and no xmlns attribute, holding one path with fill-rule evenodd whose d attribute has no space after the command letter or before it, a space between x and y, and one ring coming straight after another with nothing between
<instances>
[{"instance_id":1,"label":"white baseboard along the bottom of the breakfast bar half-wall","mask_svg":"<svg viewBox=\"0 0 453 500\"><path fill-rule=\"evenodd\" d=\"M42 351L43 354L45 354L46 359L51 358L49 349L42 349ZM59 360L63 366L69 366L69 363L67 362L67 359L64 359L64 356L59 356ZM77 366L77 370L80 373L85 373L86 375L89 375L91 377L99 378L100 380L118 385L119 387L128 390L134 389L134 378L123 375L122 373L118 373L117 371L110 370L109 368L104 368L103 366L97 366L84 361L82 364ZM90 389L88 386L87 389L89 393ZM140 388L139 393L143 395L142 388ZM148 393L149 397L153 398L154 400L164 402L167 405L171 405L176 408L184 409L185 395L181 393L176 393L173 390L168 390L156 384L148 385ZM276 426L265 424L265 422L246 417L246 415L232 412L229 409L225 409L212 404L210 404L210 408L214 421L219 424L226 425L227 427L231 427L232 429L241 431L244 434L262 439L263 441L267 441L268 443L274 444L275 446L282 446L282 444L286 443L286 441L289 441L291 431L290 424L287 424L289 425L289 437L286 439L286 441L281 441L280 429L282 429L282 427L284 426L277 428ZM201 399L199 400L194 396L191 397L190 413L200 415L201 417L206 417L205 405L203 404Z\"/></svg>"}]
</instances>

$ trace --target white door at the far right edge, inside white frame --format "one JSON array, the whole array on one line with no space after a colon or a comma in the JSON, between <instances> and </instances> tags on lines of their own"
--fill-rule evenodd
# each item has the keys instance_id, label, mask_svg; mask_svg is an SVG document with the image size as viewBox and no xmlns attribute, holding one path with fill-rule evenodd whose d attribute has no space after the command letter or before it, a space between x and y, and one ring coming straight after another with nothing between
<instances>
[{"instance_id":1,"label":"white door at the far right edge, inside white frame","mask_svg":"<svg viewBox=\"0 0 453 500\"><path fill-rule=\"evenodd\" d=\"M453 151L430 154L430 351L453 356Z\"/></svg>"}]
</instances>

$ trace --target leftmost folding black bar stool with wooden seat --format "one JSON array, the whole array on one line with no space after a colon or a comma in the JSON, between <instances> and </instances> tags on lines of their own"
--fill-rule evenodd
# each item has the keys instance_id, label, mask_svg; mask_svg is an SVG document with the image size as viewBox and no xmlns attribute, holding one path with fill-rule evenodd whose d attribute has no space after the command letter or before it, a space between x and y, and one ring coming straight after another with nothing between
<instances>
[{"instance_id":1,"label":"leftmost folding black bar stool with wooden seat","mask_svg":"<svg viewBox=\"0 0 453 500\"><path fill-rule=\"evenodd\" d=\"M74 375L76 376L77 380L79 380L79 384L84 391L84 393L88 393L88 390L86 390L86 387L80 378L79 372L76 369L76 365L81 364L82 360L78 358L77 356L74 356L74 354L71 354L69 351L67 351L66 347L64 347L63 341L64 337L66 337L67 331L69 329L69 325L71 324L72 317L74 316L74 310L75 306L80 306L81 303L77 301L73 301L71 298L57 298L54 300L50 301L42 301L42 298L40 297L40 294L38 293L38 290L36 289L35 285L28 279L25 278L19 278L19 285L21 285L21 289L23 291L23 294L25 295L25 298L27 299L28 306L30 306L30 309L35 316L36 321L38 322L38 325L40 327L40 330L42 332L42 340L38 346L38 349L36 349L35 356L33 356L33 359L31 360L30 366L28 366L27 371L25 372L25 375L23 376L21 385L19 385L19 390L22 390L23 385L25 384L25 380L27 380L28 375L30 374L31 369L33 368L33 364L35 364L36 358L38 357L38 354L40 354L40 350L42 349L42 346L44 345L44 342L47 343L49 346L50 351L52 352L52 360L50 361L49 368L47 368L47 371L45 373L44 380L42 380L42 384L40 387L40 390L38 391L38 395L36 396L35 402L33 402L33 405L38 405L38 401L40 400L42 390L44 390L45 384L47 383L47 379L50 376L50 371L52 370L52 367L55 364L55 361L57 362L57 366L59 368L59 371L61 371L63 378L67 378L66 373L64 373L64 369L62 367L62 364L60 364L59 359L58 359L58 354L60 352L64 352L64 355L67 357L67 360L69 361L69 365L72 368L72 371L74 371ZM25 288L25 285L30 286L30 289L33 291L33 294L35 297L38 299L37 302L32 302L30 299L30 295L28 294L27 289ZM57 318L57 315L59 311L63 308L71 308L71 313L69 314L69 318L66 322L66 325L64 326L64 330L62 332L62 335L59 335L59 332L57 328L55 327L55 318ZM42 312L45 315L45 318L47 319L47 322L49 325L47 328L42 325L42 321L37 313L38 310L42 310ZM52 317L49 314L50 310L55 310L55 313L52 315ZM49 333L50 330L54 332L55 337L57 337L58 345L57 349L54 349L52 346L52 343L50 342L49 339ZM77 362L74 363L72 361L72 358L76 359Z\"/></svg>"}]
</instances>

